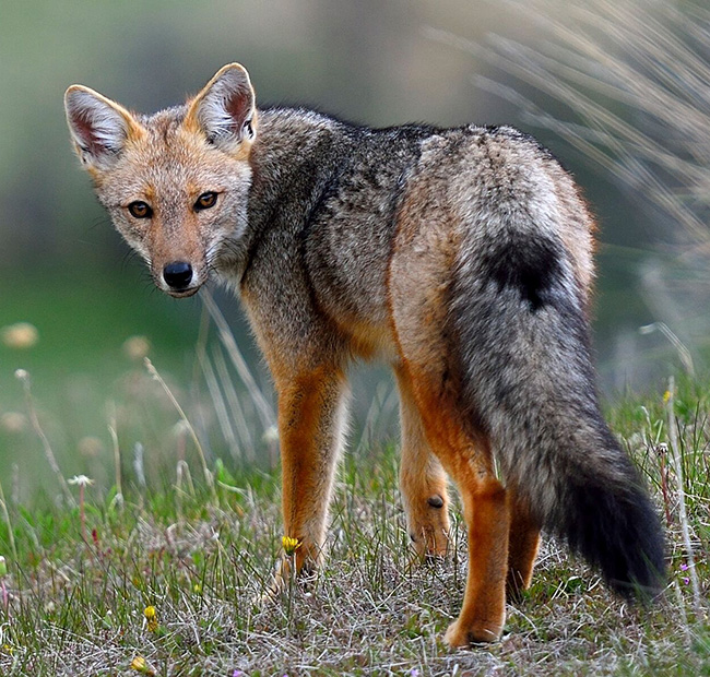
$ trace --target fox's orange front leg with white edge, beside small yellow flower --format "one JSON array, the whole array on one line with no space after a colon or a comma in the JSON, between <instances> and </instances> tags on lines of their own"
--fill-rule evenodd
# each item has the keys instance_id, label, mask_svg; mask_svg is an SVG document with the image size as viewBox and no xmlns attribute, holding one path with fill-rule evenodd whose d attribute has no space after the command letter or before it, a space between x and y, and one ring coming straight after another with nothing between
<instances>
[{"instance_id":1,"label":"fox's orange front leg with white edge, beside small yellow flower","mask_svg":"<svg viewBox=\"0 0 710 677\"><path fill-rule=\"evenodd\" d=\"M323 555L328 506L345 424L345 378L332 365L276 380L284 535L295 539L276 584L291 571L311 569Z\"/></svg>"}]
</instances>

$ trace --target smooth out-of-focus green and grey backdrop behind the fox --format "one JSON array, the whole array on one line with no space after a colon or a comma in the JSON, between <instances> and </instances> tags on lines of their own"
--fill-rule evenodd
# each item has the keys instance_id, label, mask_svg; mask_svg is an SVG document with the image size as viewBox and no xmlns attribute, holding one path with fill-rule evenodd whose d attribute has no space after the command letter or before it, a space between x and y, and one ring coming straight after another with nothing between
<instances>
[{"instance_id":1,"label":"smooth out-of-focus green and grey backdrop behind the fox","mask_svg":"<svg viewBox=\"0 0 710 677\"><path fill-rule=\"evenodd\" d=\"M566 11L561 1L546 7L553 14ZM107 453L111 406L138 396L126 379L142 367L127 355L127 339L147 337L153 361L186 397L199 380L194 348L201 302L155 292L96 204L66 129L62 95L72 83L153 111L184 100L236 60L250 71L262 103L310 105L374 126L521 127L563 158L599 216L594 326L605 392L655 384L677 367L676 352L663 336L639 334L638 328L650 322L672 324L699 364L705 334L696 329L695 337L686 339L684 332L701 313L688 320L658 285L658 293L649 293L643 282L653 276L648 266L655 270L653 261L665 257L656 244L667 224L558 135L526 124L516 105L476 87L472 78L509 82L534 97L532 87L484 57L431 39L433 29L481 44L492 32L533 47L542 39L514 7L478 0L0 1L0 328L29 322L38 331L32 347L0 345L0 480L10 478L15 464L26 484L34 465L42 465L26 418L20 425L11 416L26 416L15 369L28 370L35 404L59 455L72 459L78 448L87 449L88 461L68 462L72 473L91 466L94 452L86 439L98 449L94 455ZM543 105L553 115L561 108L552 99ZM268 392L238 302L215 294ZM365 402L356 415L362 418L372 397L368 384L381 372L358 373ZM121 433L130 437L126 443L146 435L145 427L159 430L156 420L143 421L143 432L132 437Z\"/></svg>"}]
</instances>

